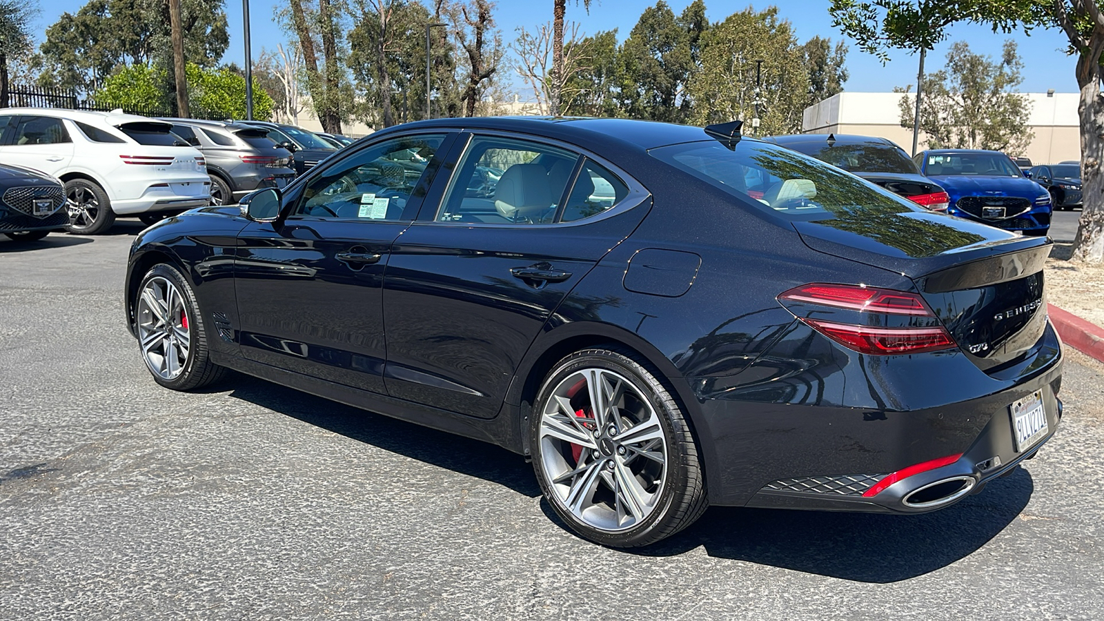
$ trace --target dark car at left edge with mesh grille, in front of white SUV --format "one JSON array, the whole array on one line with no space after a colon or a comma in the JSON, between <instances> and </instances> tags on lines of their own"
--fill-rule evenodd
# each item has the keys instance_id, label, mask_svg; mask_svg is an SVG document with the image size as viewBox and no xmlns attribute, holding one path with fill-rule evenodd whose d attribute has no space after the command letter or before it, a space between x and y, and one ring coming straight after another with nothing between
<instances>
[{"instance_id":1,"label":"dark car at left edge with mesh grille, in front of white SUV","mask_svg":"<svg viewBox=\"0 0 1104 621\"><path fill-rule=\"evenodd\" d=\"M0 164L0 233L31 242L68 224L62 182L45 172Z\"/></svg>"}]
</instances>

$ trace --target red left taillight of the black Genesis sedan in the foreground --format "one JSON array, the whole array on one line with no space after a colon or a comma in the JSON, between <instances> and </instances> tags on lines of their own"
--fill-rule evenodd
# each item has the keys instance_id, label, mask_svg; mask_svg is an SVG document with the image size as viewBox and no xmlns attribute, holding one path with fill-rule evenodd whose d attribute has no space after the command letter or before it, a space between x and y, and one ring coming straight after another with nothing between
<instances>
[{"instance_id":1,"label":"red left taillight of the black Genesis sedan in the foreground","mask_svg":"<svg viewBox=\"0 0 1104 621\"><path fill-rule=\"evenodd\" d=\"M907 315L937 319L924 299L915 293L862 285L813 283L783 293L778 296L778 301L783 304L798 302L858 310L863 314ZM798 318L818 333L860 354L892 356L957 347L951 333L942 325L884 327L866 323Z\"/></svg>"}]
</instances>

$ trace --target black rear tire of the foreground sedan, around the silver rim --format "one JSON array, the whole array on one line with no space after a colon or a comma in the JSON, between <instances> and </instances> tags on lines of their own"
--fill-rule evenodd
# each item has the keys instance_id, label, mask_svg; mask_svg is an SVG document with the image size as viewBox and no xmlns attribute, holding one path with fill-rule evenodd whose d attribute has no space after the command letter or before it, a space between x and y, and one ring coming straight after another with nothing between
<instances>
[{"instance_id":1,"label":"black rear tire of the foreground sedan, around the silver rim","mask_svg":"<svg viewBox=\"0 0 1104 621\"><path fill-rule=\"evenodd\" d=\"M560 457L556 457L556 453L554 452L556 449L552 448L551 444L545 445L542 443L542 418L546 408L551 407L554 409L554 406L550 406L550 399L555 394L558 387L575 381L574 377L577 377L580 372L587 372L584 370L590 369L612 371L618 378L627 379L636 390L634 398L643 396L647 400L655 418L658 419L659 427L662 429L666 466L665 475L657 477L657 482L659 478L662 480L662 486L658 487L658 491L655 492L656 495L654 498L656 499L652 508L650 508L650 513L631 523L631 526L627 528L597 528L593 524L587 524L582 518L576 517L565 506L559 493L553 490L552 483L549 481L549 473L546 472L545 456L549 456L553 462L558 459L567 459L567 455L563 453L562 445L559 449ZM624 398L620 402L623 406L628 403ZM574 408L574 406L572 407ZM620 408L618 409L620 410ZM622 414L618 415L627 413L628 410L620 410L620 412ZM575 415L580 414L576 413ZM598 419L595 418L594 420ZM633 435L633 429L634 425L628 425L620 434L628 438ZM596 440L595 442L602 445L605 440L603 438L601 441ZM694 442L688 417L671 397L671 392L665 387L659 371L647 362L641 361L630 350L616 346L596 347L576 351L560 360L545 377L538 392L535 404L530 415L529 442L533 470L537 473L537 480L548 503L572 530L596 544L617 548L646 546L690 526L701 517L708 507L704 471L701 466L700 453ZM567 445L573 446L573 444ZM549 451L550 455L545 455L545 451ZM582 449L582 451L586 451L586 449ZM619 445L615 453L616 455L627 454L622 452ZM593 454L594 463L599 463L599 452L594 451ZM606 446L602 446L602 454L607 455L603 459L608 462L617 460L622 464L628 463L626 459L615 456L614 452L607 452ZM580 460L578 454L574 459L576 463L569 463L567 467L575 469L577 472L583 461ZM586 459L584 457L584 460ZM609 463L602 463L608 465L611 471L615 467ZM611 476L616 477L615 475ZM559 483L562 486L563 477L561 476L560 478ZM574 485L574 480L570 485ZM611 492L608 488L603 493L607 496L617 496L616 492ZM598 493L592 493L591 497L596 498L597 495ZM607 511L608 508L607 501Z\"/></svg>"}]
</instances>

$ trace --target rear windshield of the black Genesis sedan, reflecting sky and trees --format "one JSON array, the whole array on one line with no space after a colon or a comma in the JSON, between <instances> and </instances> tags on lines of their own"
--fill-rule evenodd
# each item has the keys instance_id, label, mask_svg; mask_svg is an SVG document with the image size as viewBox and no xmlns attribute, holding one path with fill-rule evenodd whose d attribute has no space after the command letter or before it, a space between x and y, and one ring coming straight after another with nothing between
<instances>
[{"instance_id":1,"label":"rear windshield of the black Genesis sedan, reflecting sky and trees","mask_svg":"<svg viewBox=\"0 0 1104 621\"><path fill-rule=\"evenodd\" d=\"M659 147L652 157L790 220L923 211L885 190L777 145L718 140Z\"/></svg>"}]
</instances>

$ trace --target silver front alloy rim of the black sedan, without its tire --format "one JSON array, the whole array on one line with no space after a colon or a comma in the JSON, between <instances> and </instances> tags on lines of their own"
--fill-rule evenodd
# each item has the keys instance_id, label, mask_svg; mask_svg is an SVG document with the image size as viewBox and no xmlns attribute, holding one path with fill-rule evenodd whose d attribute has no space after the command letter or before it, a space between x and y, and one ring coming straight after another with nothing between
<instances>
[{"instance_id":1,"label":"silver front alloy rim of the black sedan, without its tire","mask_svg":"<svg viewBox=\"0 0 1104 621\"><path fill-rule=\"evenodd\" d=\"M161 276L146 282L138 298L138 343L151 371L176 379L191 349L188 310L180 291Z\"/></svg>"}]
</instances>

